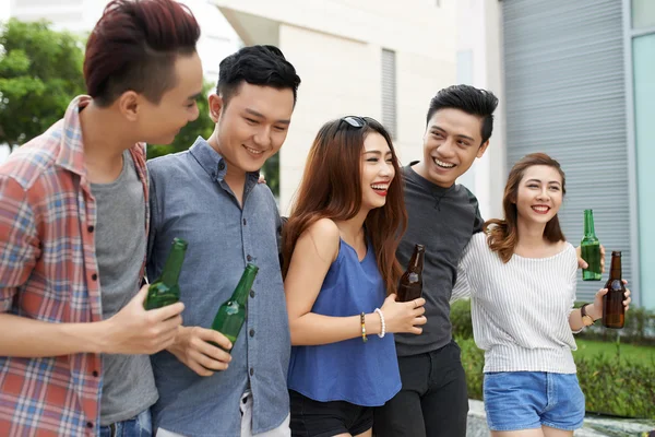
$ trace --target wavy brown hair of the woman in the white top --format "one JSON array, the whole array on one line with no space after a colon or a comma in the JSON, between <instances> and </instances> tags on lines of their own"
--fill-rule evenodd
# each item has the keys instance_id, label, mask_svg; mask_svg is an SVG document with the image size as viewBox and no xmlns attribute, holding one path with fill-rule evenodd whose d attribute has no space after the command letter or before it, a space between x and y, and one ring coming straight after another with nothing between
<instances>
[{"instance_id":1,"label":"wavy brown hair of the woman in the white top","mask_svg":"<svg viewBox=\"0 0 655 437\"><path fill-rule=\"evenodd\" d=\"M504 220L493 218L485 223L483 231L487 234L487 244L489 248L498 256L502 262L508 262L514 249L519 244L519 213L516 211L516 200L519 197L519 185L523 180L525 170L535 165L546 165L555 168L562 178L562 196L567 193L567 179L560 164L545 153L531 153L522 157L510 172L508 184L505 185L502 197L502 209ZM559 224L557 214L546 223L544 237L551 243L565 240L564 234Z\"/></svg>"}]
</instances>

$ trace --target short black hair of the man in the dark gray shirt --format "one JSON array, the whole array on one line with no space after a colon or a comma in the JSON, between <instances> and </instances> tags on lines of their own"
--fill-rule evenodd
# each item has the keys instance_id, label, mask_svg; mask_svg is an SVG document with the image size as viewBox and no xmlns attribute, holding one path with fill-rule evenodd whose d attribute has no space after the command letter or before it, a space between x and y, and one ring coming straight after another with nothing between
<instances>
[{"instance_id":1,"label":"short black hair of the man in the dark gray shirt","mask_svg":"<svg viewBox=\"0 0 655 437\"><path fill-rule=\"evenodd\" d=\"M476 88L471 85L452 85L441 90L430 101L428 118L426 123L440 109L453 108L463 110L472 116L478 116L483 119L481 137L483 142L491 138L493 131L493 111L498 107L498 97L487 90Z\"/></svg>"}]
</instances>

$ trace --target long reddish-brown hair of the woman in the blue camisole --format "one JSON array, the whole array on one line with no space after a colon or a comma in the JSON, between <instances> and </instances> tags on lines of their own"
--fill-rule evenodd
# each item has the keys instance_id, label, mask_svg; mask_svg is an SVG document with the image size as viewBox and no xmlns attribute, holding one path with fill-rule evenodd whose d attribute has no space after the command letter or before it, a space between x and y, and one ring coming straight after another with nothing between
<instances>
[{"instance_id":1,"label":"long reddish-brown hair of the woman in the blue camisole","mask_svg":"<svg viewBox=\"0 0 655 437\"><path fill-rule=\"evenodd\" d=\"M395 176L389 186L384 206L371 210L365 221L378 269L388 294L395 290L402 271L395 258L400 239L407 227L401 167L391 135L378 121L366 118L361 128L342 119L323 125L309 151L302 181L283 231L283 275L289 269L294 247L300 235L321 218L346 221L361 209L361 153L370 133L381 134L392 153Z\"/></svg>"}]
</instances>

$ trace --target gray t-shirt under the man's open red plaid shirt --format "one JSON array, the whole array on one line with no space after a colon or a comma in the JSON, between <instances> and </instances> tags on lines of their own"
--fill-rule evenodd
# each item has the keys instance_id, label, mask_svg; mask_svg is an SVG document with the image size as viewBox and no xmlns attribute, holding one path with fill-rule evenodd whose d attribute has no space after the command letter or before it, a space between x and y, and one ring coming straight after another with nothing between
<instances>
[{"instance_id":1,"label":"gray t-shirt under the man's open red plaid shirt","mask_svg":"<svg viewBox=\"0 0 655 437\"><path fill-rule=\"evenodd\" d=\"M139 292L145 257L145 201L129 151L123 168L111 184L92 184L97 202L95 234L100 277L103 318L122 309ZM134 417L157 401L157 390L147 355L103 355L100 425Z\"/></svg>"}]
</instances>

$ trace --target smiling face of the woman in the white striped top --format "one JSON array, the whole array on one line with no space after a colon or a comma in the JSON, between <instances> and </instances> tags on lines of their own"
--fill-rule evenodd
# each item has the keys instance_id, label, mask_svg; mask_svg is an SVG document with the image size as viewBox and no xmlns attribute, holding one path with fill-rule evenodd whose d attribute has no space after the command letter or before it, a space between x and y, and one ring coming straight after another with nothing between
<instances>
[{"instance_id":1,"label":"smiling face of the woman in the white striped top","mask_svg":"<svg viewBox=\"0 0 655 437\"><path fill-rule=\"evenodd\" d=\"M533 165L525 169L516 193L519 221L525 224L548 223L562 204L562 177L547 165Z\"/></svg>"}]
</instances>

